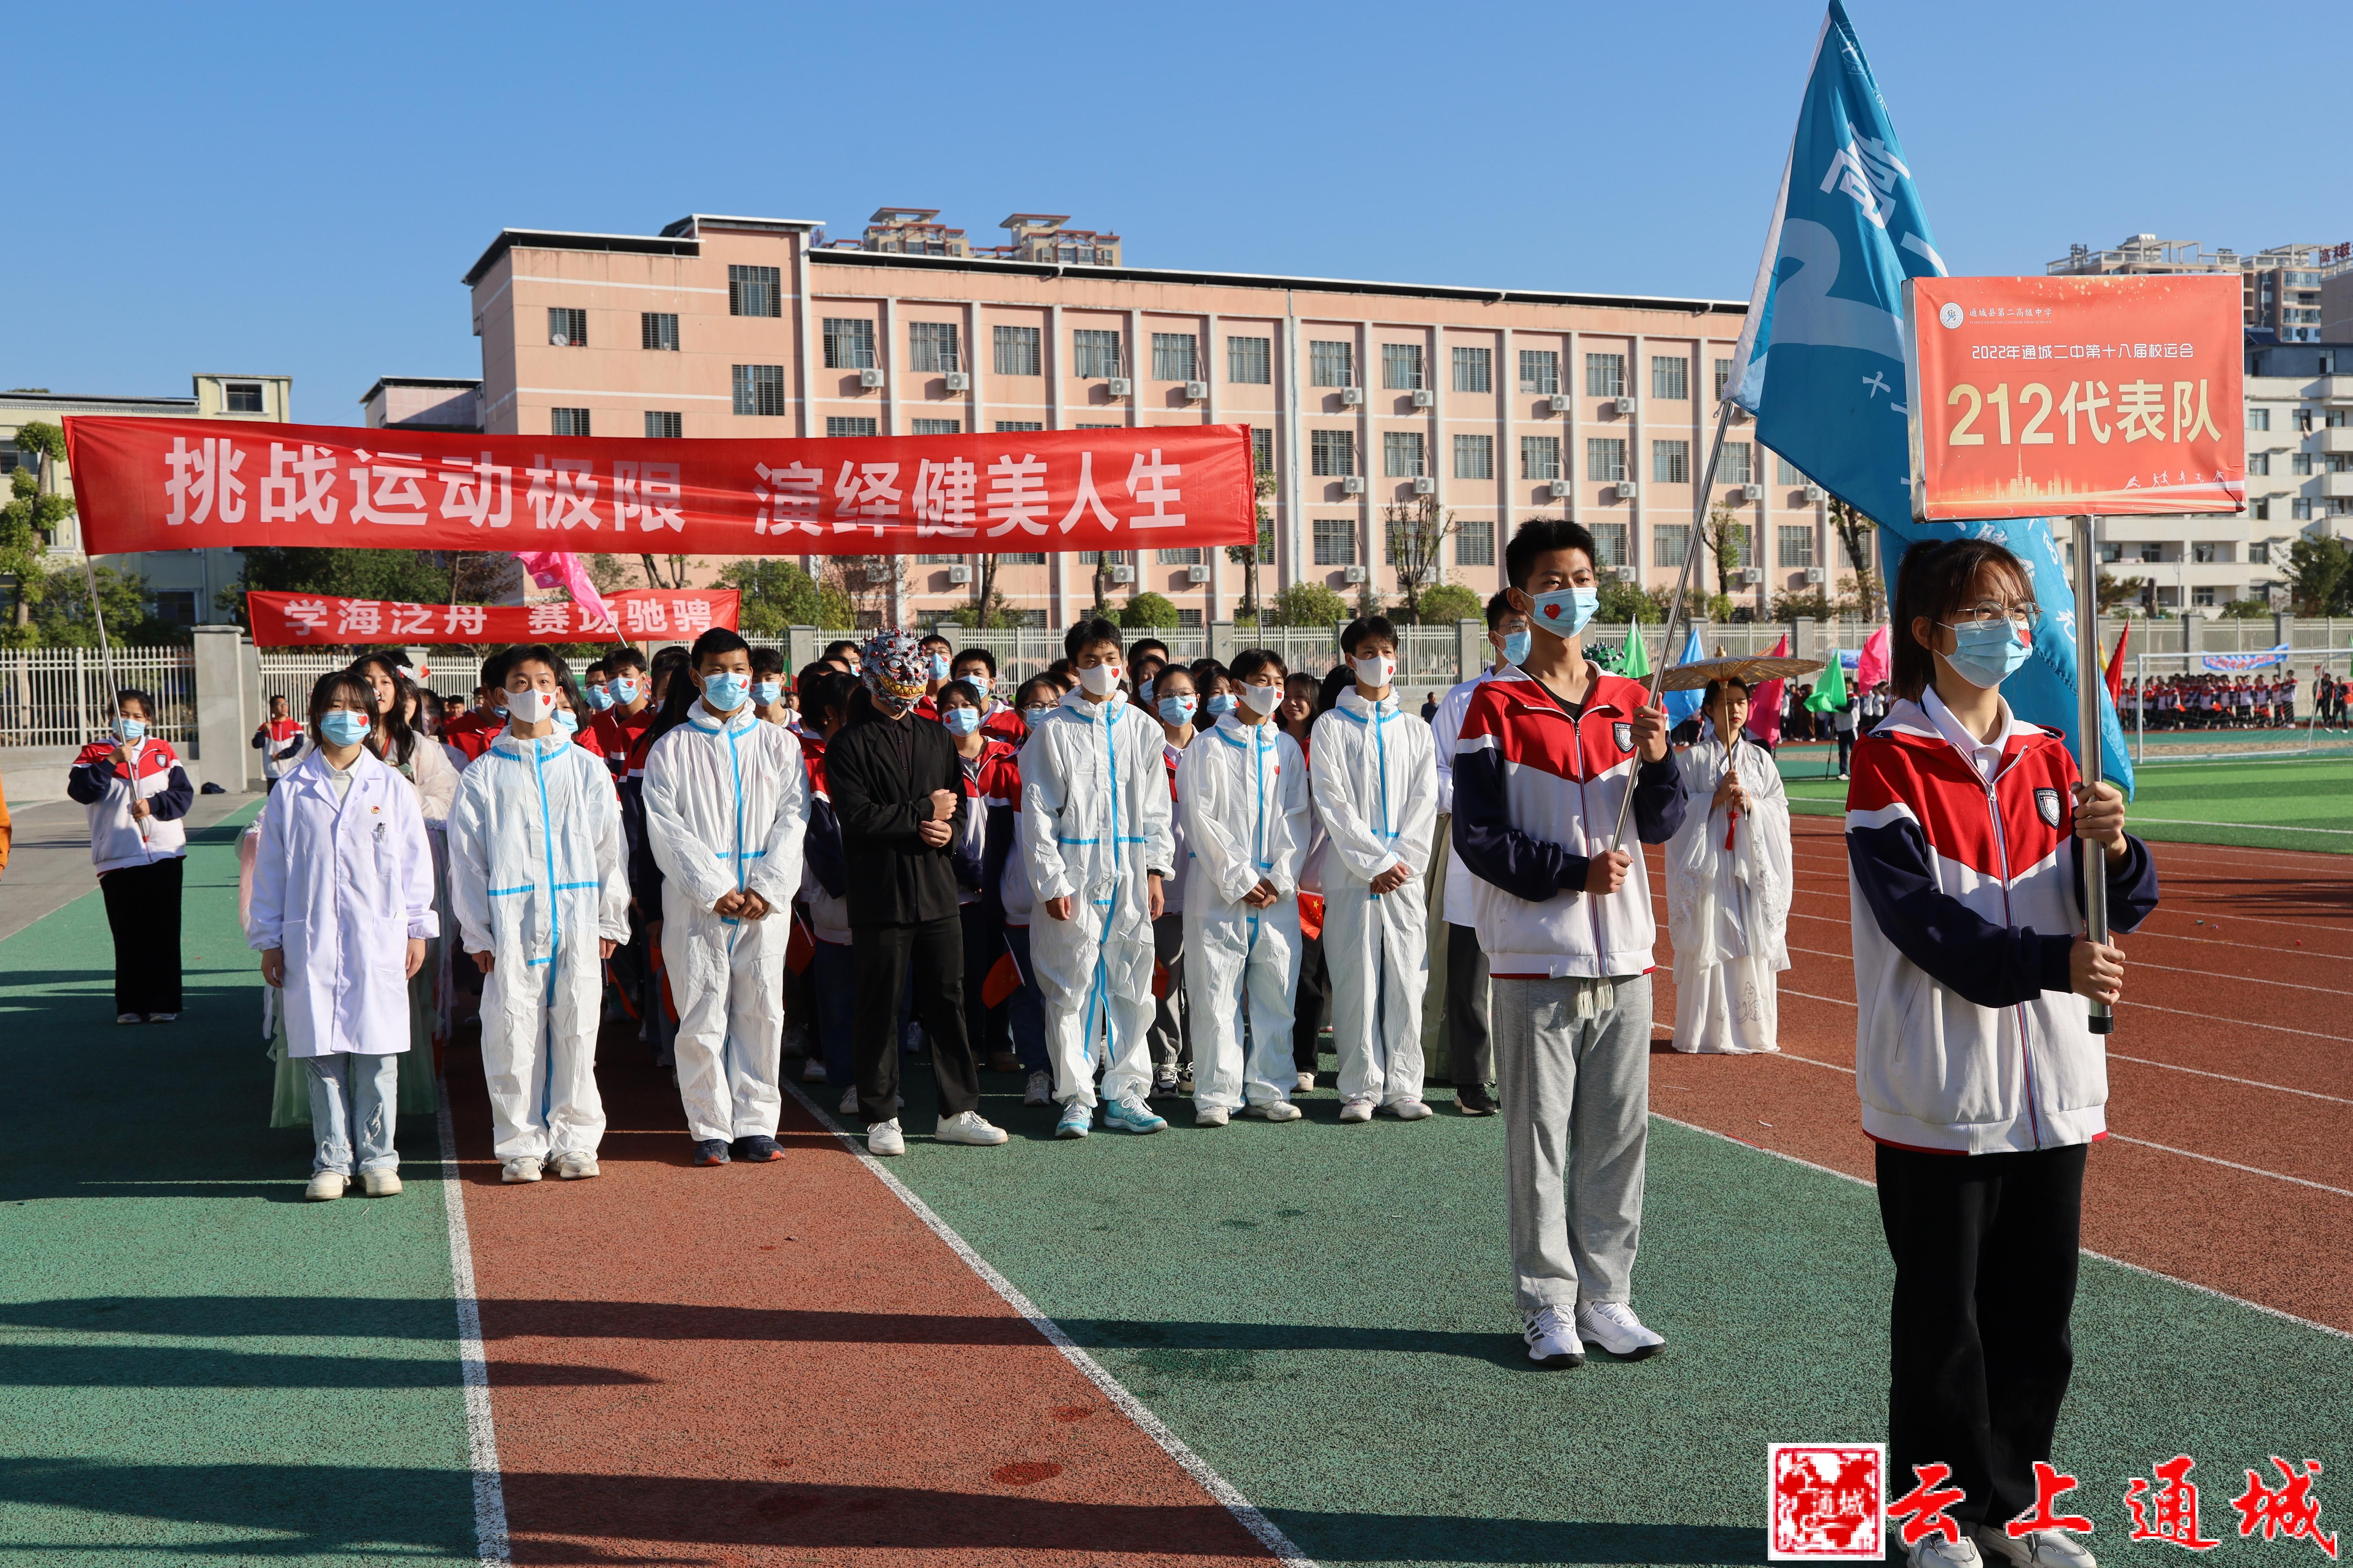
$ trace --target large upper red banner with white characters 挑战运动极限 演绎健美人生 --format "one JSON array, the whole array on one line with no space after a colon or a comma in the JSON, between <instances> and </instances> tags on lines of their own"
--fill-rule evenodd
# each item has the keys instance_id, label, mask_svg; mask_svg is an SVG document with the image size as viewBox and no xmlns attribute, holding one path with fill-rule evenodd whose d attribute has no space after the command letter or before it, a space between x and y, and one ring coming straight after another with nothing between
<instances>
[{"instance_id":1,"label":"large upper red banner with white characters \u6311\u6218\u8fd0\u52a8\u6781\u9650 \u6f14\u7ece\u5065\u7f8e\u4eba\u751f","mask_svg":"<svg viewBox=\"0 0 2353 1568\"><path fill-rule=\"evenodd\" d=\"M628 442L68 414L66 461L94 555L993 555L1259 536L1249 425Z\"/></svg>"}]
</instances>

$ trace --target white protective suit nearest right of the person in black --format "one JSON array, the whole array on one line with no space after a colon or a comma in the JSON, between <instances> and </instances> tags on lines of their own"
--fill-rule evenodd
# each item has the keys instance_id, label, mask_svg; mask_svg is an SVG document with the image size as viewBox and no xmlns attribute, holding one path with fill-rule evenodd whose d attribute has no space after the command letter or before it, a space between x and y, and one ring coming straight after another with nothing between
<instances>
[{"instance_id":1,"label":"white protective suit nearest right of the person in black","mask_svg":"<svg viewBox=\"0 0 2353 1568\"><path fill-rule=\"evenodd\" d=\"M1153 910L1146 877L1176 870L1167 731L1125 693L1061 698L1021 748L1021 856L1031 966L1045 997L1054 1100L1096 1105L1094 1044L1108 1030L1104 1098L1153 1086ZM1071 919L1045 912L1073 898Z\"/></svg>"}]
</instances>

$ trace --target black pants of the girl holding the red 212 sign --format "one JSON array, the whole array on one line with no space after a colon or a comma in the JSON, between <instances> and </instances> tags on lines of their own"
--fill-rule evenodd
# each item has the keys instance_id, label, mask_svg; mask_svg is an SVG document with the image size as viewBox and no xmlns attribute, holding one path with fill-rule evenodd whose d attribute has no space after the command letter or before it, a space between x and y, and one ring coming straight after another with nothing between
<instances>
[{"instance_id":1,"label":"black pants of the girl holding the red 212 sign","mask_svg":"<svg viewBox=\"0 0 2353 1568\"><path fill-rule=\"evenodd\" d=\"M1880 1225L1897 1260L1887 1486L1953 1467L1953 1516L2005 1523L2035 1502L2075 1345L2075 1246L2087 1145L2033 1154L1878 1150Z\"/></svg>"}]
</instances>

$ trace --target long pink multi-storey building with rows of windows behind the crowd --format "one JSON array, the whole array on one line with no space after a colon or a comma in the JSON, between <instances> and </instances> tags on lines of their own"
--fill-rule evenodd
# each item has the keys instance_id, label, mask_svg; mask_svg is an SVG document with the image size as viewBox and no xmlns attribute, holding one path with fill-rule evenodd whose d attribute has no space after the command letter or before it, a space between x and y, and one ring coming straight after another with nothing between
<instances>
[{"instance_id":1,"label":"long pink multi-storey building with rows of windows behind the crowd","mask_svg":"<svg viewBox=\"0 0 2353 1568\"><path fill-rule=\"evenodd\" d=\"M466 273L482 428L692 440L1247 423L1278 482L1266 597L1320 581L1353 602L1369 578L1393 602L1384 508L1417 498L1461 522L1445 581L1482 597L1501 585L1501 543L1534 515L1574 517L1605 564L1673 583L1744 315L1715 299L842 249L816 230L708 214L659 235L504 230ZM1753 435L1732 428L1715 501L1762 548L1741 588L1762 611L1772 592L1821 583L1833 541L1819 491ZM1186 625L1242 597L1242 567L1214 548L1111 567L1115 597L1167 595ZM969 602L969 557L915 557L896 581L899 611L929 621ZM1007 557L998 574L1035 625L1066 625L1092 585L1092 557Z\"/></svg>"}]
</instances>

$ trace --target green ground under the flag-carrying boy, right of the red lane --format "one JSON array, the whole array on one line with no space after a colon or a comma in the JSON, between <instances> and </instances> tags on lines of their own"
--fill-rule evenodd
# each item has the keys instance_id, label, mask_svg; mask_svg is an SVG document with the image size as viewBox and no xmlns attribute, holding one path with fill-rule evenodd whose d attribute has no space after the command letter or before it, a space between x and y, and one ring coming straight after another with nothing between
<instances>
[{"instance_id":1,"label":"green ground under the flag-carrying boy, right of the red lane","mask_svg":"<svg viewBox=\"0 0 2353 1568\"><path fill-rule=\"evenodd\" d=\"M918 1140L894 1171L1318 1561L1762 1561L1765 1443L1885 1434L1889 1265L1857 1182L1654 1121L1635 1305L1668 1352L1544 1373L1499 1119L1341 1128L1322 1093L1289 1126L1068 1145L1009 1098L986 1114L1009 1147ZM2353 1342L2113 1265L2075 1333L2059 1458L2104 1561L2155 1561L2118 1549L2120 1497L2174 1453L2217 1486L2271 1453L2353 1469Z\"/></svg>"}]
</instances>

